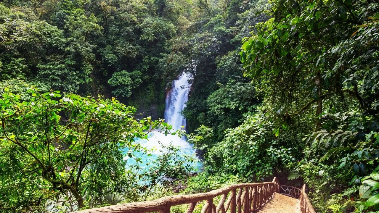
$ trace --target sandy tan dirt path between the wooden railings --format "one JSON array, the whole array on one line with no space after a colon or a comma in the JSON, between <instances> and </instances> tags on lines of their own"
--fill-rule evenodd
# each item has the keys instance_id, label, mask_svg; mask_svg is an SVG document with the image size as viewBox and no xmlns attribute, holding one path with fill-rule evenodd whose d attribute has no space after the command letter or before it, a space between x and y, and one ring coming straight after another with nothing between
<instances>
[{"instance_id":1,"label":"sandy tan dirt path between the wooden railings","mask_svg":"<svg viewBox=\"0 0 379 213\"><path fill-rule=\"evenodd\" d=\"M275 193L258 213L300 213L300 200Z\"/></svg>"}]
</instances>

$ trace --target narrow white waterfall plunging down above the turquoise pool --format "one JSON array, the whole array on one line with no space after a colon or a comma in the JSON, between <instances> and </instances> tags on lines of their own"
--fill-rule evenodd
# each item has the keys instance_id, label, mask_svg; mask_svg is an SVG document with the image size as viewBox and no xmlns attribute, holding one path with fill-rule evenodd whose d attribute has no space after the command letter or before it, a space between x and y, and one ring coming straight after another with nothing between
<instances>
[{"instance_id":1,"label":"narrow white waterfall plunging down above the turquoise pool","mask_svg":"<svg viewBox=\"0 0 379 213\"><path fill-rule=\"evenodd\" d=\"M165 121L172 125L174 130L179 130L181 126L186 125L186 119L180 112L186 107L189 89L191 84L188 83L190 74L182 74L172 83L172 89L166 97L166 107L164 109Z\"/></svg>"}]
</instances>

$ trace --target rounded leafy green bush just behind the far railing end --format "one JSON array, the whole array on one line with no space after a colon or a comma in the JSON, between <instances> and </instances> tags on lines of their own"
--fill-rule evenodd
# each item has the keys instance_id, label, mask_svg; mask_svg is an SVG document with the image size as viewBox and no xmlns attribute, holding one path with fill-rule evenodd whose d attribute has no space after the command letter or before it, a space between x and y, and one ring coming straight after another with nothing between
<instances>
[{"instance_id":1,"label":"rounded leafy green bush just behind the far railing end","mask_svg":"<svg viewBox=\"0 0 379 213\"><path fill-rule=\"evenodd\" d=\"M222 156L223 161L221 168L211 169L228 171L249 181L273 175L274 167L293 159L291 148L281 146L274 135L274 127L267 114L257 113L247 117L242 125L228 129L225 139L209 150L207 161L219 159L217 156Z\"/></svg>"}]
</instances>

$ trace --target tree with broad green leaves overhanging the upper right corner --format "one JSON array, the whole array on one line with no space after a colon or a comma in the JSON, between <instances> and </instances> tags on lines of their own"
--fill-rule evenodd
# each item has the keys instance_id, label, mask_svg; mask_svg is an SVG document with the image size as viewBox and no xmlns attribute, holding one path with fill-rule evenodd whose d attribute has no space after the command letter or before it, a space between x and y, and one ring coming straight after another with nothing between
<instances>
[{"instance_id":1,"label":"tree with broad green leaves overhanging the upper right corner","mask_svg":"<svg viewBox=\"0 0 379 213\"><path fill-rule=\"evenodd\" d=\"M348 80L351 75L356 75L357 72L351 69L351 66L354 66L353 61L344 66L340 63L342 59L340 57L347 53L345 47L349 49L349 45L343 48L341 45L361 38L356 33L363 33L363 27L356 31L357 25L364 24L366 28L370 28L371 24L375 25L377 22L364 23L364 18L370 16L369 14L373 15L374 11L359 13L360 5L352 2L336 1L324 4L322 1L310 3L304 1L300 3L300 5L293 2L286 2L287 5L274 4L274 17L259 24L258 33L244 43L241 61L244 62L247 70L245 75L265 76L272 82L270 85L283 88L279 90L280 92L272 90L270 93L272 100L298 104L288 106L296 107L296 110L285 113L295 112L296 114L296 111L303 111L310 107L312 104L303 102L301 105L296 99L311 93L313 96L311 102L317 105L315 117L318 117L323 111L322 100L327 96L339 94L343 98L343 93L349 93L357 100L362 99L357 93L364 90L363 87L358 88L361 85L352 83L352 86L342 89L346 82L351 82ZM306 6L308 10L301 9L302 6ZM342 10L338 11L334 8ZM345 28L348 30L344 31ZM354 37L351 40L349 36ZM367 45L376 44L369 42ZM366 47L363 45L363 48ZM359 55L352 57L359 57ZM373 66L372 64L371 67ZM304 86L301 87L302 84ZM370 93L372 92L374 91ZM365 103L362 102L360 105L368 113L376 114L366 108ZM316 130L319 130L321 124L319 124L319 119L315 120Z\"/></svg>"}]
</instances>

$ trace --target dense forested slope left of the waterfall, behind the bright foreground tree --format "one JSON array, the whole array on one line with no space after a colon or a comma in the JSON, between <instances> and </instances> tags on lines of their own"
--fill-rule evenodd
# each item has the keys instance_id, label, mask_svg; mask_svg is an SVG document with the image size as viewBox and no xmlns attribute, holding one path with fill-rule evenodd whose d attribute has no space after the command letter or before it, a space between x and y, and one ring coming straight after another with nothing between
<instances>
[{"instance_id":1,"label":"dense forested slope left of the waterfall, behind the bright foreground tree","mask_svg":"<svg viewBox=\"0 0 379 213\"><path fill-rule=\"evenodd\" d=\"M5 1L1 81L17 78L44 92L115 95L141 111L162 105L167 82L158 61L170 52L169 39L188 27L189 5L186 0Z\"/></svg>"}]
</instances>

